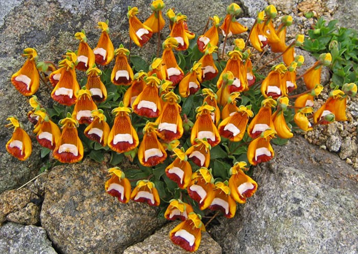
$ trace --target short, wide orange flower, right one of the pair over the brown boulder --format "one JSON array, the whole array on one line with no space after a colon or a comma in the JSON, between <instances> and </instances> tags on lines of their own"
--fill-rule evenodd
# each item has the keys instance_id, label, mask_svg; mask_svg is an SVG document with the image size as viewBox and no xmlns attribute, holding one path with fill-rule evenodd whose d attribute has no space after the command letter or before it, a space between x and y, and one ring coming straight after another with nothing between
<instances>
[{"instance_id":1,"label":"short, wide orange flower, right one of the pair over the brown boulder","mask_svg":"<svg viewBox=\"0 0 358 254\"><path fill-rule=\"evenodd\" d=\"M161 202L154 183L147 180L138 181L136 188L130 195L130 199L137 202L146 202L149 206L156 207L158 207Z\"/></svg>"}]
</instances>

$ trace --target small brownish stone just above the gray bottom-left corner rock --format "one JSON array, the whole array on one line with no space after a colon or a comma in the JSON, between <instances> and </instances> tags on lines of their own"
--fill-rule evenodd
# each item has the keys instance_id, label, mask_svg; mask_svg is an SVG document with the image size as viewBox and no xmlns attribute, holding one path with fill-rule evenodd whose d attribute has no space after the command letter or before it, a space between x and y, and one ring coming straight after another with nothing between
<instances>
[{"instance_id":1,"label":"small brownish stone just above the gray bottom-left corner rock","mask_svg":"<svg viewBox=\"0 0 358 254\"><path fill-rule=\"evenodd\" d=\"M8 214L6 219L19 224L34 225L40 221L40 208L30 202L25 208Z\"/></svg>"}]
</instances>

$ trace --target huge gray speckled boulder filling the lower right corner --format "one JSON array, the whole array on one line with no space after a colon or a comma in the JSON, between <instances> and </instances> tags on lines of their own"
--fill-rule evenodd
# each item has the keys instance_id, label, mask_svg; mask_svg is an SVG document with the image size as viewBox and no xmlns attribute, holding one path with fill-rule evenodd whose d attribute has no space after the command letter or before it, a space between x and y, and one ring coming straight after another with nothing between
<instances>
[{"instance_id":1,"label":"huge gray speckled boulder filling the lower right corner","mask_svg":"<svg viewBox=\"0 0 358 254\"><path fill-rule=\"evenodd\" d=\"M301 137L274 150L254 169L255 195L209 232L223 252L356 253L356 172Z\"/></svg>"}]
</instances>

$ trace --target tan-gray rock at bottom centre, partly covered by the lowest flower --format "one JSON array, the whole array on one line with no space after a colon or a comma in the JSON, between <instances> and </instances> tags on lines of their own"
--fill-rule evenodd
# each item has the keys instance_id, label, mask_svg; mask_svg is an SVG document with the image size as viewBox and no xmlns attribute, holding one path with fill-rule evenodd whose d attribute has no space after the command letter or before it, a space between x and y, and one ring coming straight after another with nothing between
<instances>
[{"instance_id":1,"label":"tan-gray rock at bottom centre, partly covered by the lowest flower","mask_svg":"<svg viewBox=\"0 0 358 254\"><path fill-rule=\"evenodd\" d=\"M156 231L153 235L146 238L143 242L137 243L126 248L123 254L184 254L190 253L181 247L172 243L169 238L170 231L178 224L178 222L168 223L166 226ZM221 253L220 245L215 242L208 233L202 232L202 240L200 246L195 253L219 254Z\"/></svg>"}]
</instances>

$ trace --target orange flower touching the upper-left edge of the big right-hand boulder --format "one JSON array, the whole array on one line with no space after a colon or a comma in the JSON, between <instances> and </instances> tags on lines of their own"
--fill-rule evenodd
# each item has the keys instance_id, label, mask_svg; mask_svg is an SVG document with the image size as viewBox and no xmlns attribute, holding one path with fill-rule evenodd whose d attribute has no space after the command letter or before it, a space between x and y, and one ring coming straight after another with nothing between
<instances>
[{"instance_id":1,"label":"orange flower touching the upper-left edge of the big right-hand boulder","mask_svg":"<svg viewBox=\"0 0 358 254\"><path fill-rule=\"evenodd\" d=\"M274 138L275 134L274 130L266 130L250 142L248 147L248 160L250 164L256 166L261 162L270 161L274 157L275 153L270 140Z\"/></svg>"}]
</instances>

